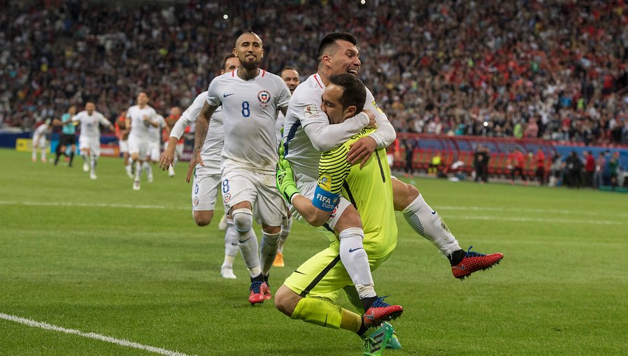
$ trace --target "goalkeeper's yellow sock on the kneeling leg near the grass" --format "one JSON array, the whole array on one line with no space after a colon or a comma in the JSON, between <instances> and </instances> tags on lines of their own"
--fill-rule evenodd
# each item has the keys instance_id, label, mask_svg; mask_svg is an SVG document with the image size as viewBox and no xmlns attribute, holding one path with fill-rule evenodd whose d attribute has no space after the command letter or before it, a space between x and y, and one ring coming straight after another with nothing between
<instances>
[{"instance_id":1,"label":"goalkeeper's yellow sock on the kneeling leg near the grass","mask_svg":"<svg viewBox=\"0 0 628 356\"><path fill-rule=\"evenodd\" d=\"M294 313L292 313L292 319L299 319L332 329L341 328L351 332L357 332L362 322L361 317L352 311L310 297L299 300L294 308Z\"/></svg>"}]
</instances>

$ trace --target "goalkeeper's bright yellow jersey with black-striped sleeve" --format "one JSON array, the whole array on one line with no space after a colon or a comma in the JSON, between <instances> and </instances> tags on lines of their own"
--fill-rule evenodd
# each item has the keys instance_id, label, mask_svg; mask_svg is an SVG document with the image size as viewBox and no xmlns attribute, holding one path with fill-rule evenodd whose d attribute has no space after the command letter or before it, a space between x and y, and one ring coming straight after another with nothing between
<instances>
[{"instance_id":1,"label":"goalkeeper's bright yellow jersey with black-striped sleeve","mask_svg":"<svg viewBox=\"0 0 628 356\"><path fill-rule=\"evenodd\" d=\"M318 189L315 200L338 195L349 200L360 214L364 230L364 249L369 259L387 255L397 246L397 224L386 150L377 149L363 168L347 162L350 145L373 128L365 128L340 146L324 152L318 165ZM315 204L316 205L316 204ZM335 205L335 204L334 204Z\"/></svg>"}]
</instances>

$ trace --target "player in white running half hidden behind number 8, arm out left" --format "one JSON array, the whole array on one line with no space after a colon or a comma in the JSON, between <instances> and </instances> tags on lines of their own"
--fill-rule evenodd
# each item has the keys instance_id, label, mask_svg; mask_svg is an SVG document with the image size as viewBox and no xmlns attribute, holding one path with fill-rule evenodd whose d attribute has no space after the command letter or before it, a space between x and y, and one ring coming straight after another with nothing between
<instances>
[{"instance_id":1,"label":"player in white running half hidden behind number 8, arm out left","mask_svg":"<svg viewBox=\"0 0 628 356\"><path fill-rule=\"evenodd\" d=\"M227 54L223 60L223 69L220 74L237 70L240 61L233 54ZM186 109L181 118L172 127L168 145L161 155L159 166L166 170L172 167L171 163L176 157L177 142L183 136L186 126L195 122L200 114L205 101L207 91L203 91L195 99L192 105ZM198 226L206 226L214 218L214 206L218 190L221 188L220 179L220 152L223 151L225 130L223 128L223 112L220 107L211 116L211 126L207 138L203 143L201 158L204 166L196 165L194 182L192 185L192 214L194 222ZM233 273L233 261L238 253L238 234L232 219L227 219L225 231L225 260L220 266L220 276L226 279L235 279Z\"/></svg>"}]
</instances>

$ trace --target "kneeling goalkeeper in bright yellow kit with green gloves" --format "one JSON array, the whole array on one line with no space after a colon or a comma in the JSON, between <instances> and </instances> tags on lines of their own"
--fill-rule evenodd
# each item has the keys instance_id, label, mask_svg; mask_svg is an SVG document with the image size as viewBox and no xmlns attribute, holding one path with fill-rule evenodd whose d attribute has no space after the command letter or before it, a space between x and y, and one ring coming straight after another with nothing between
<instances>
[{"instance_id":1,"label":"kneeling goalkeeper in bright yellow kit with green gloves","mask_svg":"<svg viewBox=\"0 0 628 356\"><path fill-rule=\"evenodd\" d=\"M338 124L364 107L366 89L354 75L341 74L329 77L330 84L322 94L322 110L331 124ZM397 225L390 182L390 168L386 152L378 149L366 165L347 162L350 145L368 135L373 129L365 128L358 135L331 149L320 157L318 186L314 200L305 198L297 190L290 163L278 163L277 185L284 197L312 225L323 225L335 213L340 196L350 200L363 221L364 250L368 254L371 270L387 260L397 244ZM358 250L358 249L357 249ZM352 283L338 252L338 239L327 249L317 253L290 275L275 295L277 308L293 319L316 325L347 329L364 339L365 355L381 355L385 347L400 348L393 328L384 322L375 332L369 330L369 319L391 320L401 316L398 305L379 301L385 314L359 316L335 304L338 292ZM380 298L381 299L381 298Z\"/></svg>"}]
</instances>

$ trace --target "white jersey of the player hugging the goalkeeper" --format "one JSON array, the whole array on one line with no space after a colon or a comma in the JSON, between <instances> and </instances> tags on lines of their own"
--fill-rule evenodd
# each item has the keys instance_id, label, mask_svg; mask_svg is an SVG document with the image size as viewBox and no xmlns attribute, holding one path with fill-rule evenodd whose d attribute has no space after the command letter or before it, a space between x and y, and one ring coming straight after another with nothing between
<instances>
[{"instance_id":1,"label":"white jersey of the player hugging the goalkeeper","mask_svg":"<svg viewBox=\"0 0 628 356\"><path fill-rule=\"evenodd\" d=\"M283 128L283 147L285 148L285 158L290 161L297 180L308 181L318 178L320 151L315 149L311 139L304 131L304 127L313 123L330 126L327 114L321 109L324 89L325 84L323 84L320 76L313 74L305 82L299 84L297 89L294 89L292 98L290 98ZM375 98L368 88L366 89L364 109L370 110L375 115L378 125L375 133L369 136L375 139L378 147L387 147L395 140L394 128L392 128L384 112L377 107ZM352 117L342 124L332 125L333 130L331 132L333 135L319 139L327 140L327 149L331 149L349 140L367 124L368 121L361 124L358 117Z\"/></svg>"}]
</instances>

